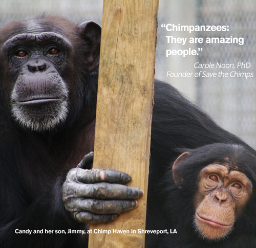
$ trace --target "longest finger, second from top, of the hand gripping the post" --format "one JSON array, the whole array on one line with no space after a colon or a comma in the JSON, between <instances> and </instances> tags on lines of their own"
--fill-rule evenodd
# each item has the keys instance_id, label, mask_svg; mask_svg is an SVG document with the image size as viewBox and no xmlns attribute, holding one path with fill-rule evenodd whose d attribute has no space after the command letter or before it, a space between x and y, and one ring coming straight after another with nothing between
<instances>
[{"instance_id":1,"label":"longest finger, second from top, of the hand gripping the post","mask_svg":"<svg viewBox=\"0 0 256 248\"><path fill-rule=\"evenodd\" d=\"M63 184L63 198L137 199L143 195L139 188L120 184Z\"/></svg>"}]
</instances>

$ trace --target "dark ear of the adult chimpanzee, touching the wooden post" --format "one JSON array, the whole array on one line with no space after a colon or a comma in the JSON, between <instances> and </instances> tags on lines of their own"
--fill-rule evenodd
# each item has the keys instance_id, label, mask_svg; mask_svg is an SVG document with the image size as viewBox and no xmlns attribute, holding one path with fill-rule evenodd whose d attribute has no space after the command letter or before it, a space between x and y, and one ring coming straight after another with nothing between
<instances>
[{"instance_id":1,"label":"dark ear of the adult chimpanzee, touching the wooden post","mask_svg":"<svg viewBox=\"0 0 256 248\"><path fill-rule=\"evenodd\" d=\"M88 65L84 70L90 73L99 65L101 27L94 21L84 21L78 27L78 32L86 42L84 55Z\"/></svg>"}]
</instances>

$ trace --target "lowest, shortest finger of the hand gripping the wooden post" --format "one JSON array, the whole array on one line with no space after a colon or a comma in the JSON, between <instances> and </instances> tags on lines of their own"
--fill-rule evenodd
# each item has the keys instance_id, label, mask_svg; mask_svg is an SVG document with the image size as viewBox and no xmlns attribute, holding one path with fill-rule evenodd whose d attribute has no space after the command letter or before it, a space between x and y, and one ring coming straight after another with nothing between
<instances>
[{"instance_id":1,"label":"lowest, shortest finger of the hand gripping the wooden post","mask_svg":"<svg viewBox=\"0 0 256 248\"><path fill-rule=\"evenodd\" d=\"M110 222L117 217L116 214L100 215L100 214L93 214L90 212L73 212L72 215L75 220L83 223Z\"/></svg>"}]
</instances>

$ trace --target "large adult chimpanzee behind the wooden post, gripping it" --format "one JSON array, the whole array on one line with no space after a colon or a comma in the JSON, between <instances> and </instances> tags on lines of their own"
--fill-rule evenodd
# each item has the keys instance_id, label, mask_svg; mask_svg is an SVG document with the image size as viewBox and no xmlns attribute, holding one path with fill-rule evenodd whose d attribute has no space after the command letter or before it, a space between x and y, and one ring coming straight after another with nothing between
<instances>
[{"instance_id":1,"label":"large adult chimpanzee behind the wooden post, gripping it","mask_svg":"<svg viewBox=\"0 0 256 248\"><path fill-rule=\"evenodd\" d=\"M100 27L94 22L75 26L60 17L39 16L0 29L1 247L84 247L88 236L68 234L68 229L112 220L136 207L142 195L122 185L129 175L91 170L92 154L82 160L94 145L99 48ZM167 227L164 208L175 201L162 194L161 185L181 154L177 148L216 142L242 144L254 154L173 87L156 81L147 229ZM254 192L248 195L253 199ZM250 217L241 216L244 221ZM244 228L252 230L252 225ZM158 242L154 235L146 237L147 246Z\"/></svg>"}]
</instances>

